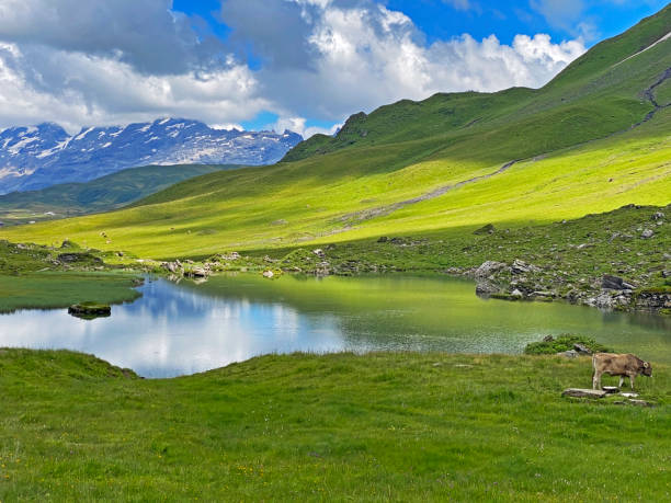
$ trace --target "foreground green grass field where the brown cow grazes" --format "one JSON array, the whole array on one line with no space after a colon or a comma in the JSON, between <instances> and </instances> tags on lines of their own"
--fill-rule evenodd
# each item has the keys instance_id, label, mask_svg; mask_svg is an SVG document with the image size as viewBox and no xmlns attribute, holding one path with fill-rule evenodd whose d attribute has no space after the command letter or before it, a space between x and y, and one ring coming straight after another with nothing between
<instances>
[{"instance_id":1,"label":"foreground green grass field where the brown cow grazes","mask_svg":"<svg viewBox=\"0 0 671 503\"><path fill-rule=\"evenodd\" d=\"M0 499L668 501L669 368L638 380L655 408L560 397L589 382L589 358L264 356L140 380L0 350Z\"/></svg>"}]
</instances>

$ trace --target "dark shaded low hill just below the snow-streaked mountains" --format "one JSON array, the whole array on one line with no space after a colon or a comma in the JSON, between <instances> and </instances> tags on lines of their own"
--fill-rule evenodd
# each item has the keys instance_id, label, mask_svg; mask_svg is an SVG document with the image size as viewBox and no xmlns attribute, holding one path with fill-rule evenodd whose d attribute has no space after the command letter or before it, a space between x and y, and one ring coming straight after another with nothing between
<instances>
[{"instance_id":1,"label":"dark shaded low hill just below the snow-streaked mountains","mask_svg":"<svg viewBox=\"0 0 671 503\"><path fill-rule=\"evenodd\" d=\"M226 164L147 165L117 171L83 183L0 195L3 225L50 220L109 212L162 191L178 182L239 168Z\"/></svg>"}]
</instances>

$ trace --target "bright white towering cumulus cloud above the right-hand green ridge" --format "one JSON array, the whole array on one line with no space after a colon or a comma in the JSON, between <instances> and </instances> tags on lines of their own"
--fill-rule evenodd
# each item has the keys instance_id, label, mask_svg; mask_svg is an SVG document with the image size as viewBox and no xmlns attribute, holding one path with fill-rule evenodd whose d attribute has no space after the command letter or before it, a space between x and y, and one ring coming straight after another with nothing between
<instances>
[{"instance_id":1,"label":"bright white towering cumulus cloud above the right-hand green ridge","mask_svg":"<svg viewBox=\"0 0 671 503\"><path fill-rule=\"evenodd\" d=\"M539 87L584 52L580 42L553 44L547 35L518 35L510 46L493 35L425 46L408 16L371 2L348 8L326 2L310 14L304 18L309 26L306 69L258 72L266 94L272 91L300 116L339 119L439 91Z\"/></svg>"}]
</instances>

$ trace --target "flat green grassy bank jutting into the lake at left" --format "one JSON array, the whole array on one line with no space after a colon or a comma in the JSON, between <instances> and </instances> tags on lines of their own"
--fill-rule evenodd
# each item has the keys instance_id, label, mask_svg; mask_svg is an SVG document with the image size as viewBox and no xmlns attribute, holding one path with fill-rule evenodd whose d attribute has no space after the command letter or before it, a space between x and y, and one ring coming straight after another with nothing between
<instances>
[{"instance_id":1,"label":"flat green grassy bank jutting into the lake at left","mask_svg":"<svg viewBox=\"0 0 671 503\"><path fill-rule=\"evenodd\" d=\"M120 304L136 299L137 277L123 273L44 272L0 275L0 313L65 308L78 302Z\"/></svg>"}]
</instances>

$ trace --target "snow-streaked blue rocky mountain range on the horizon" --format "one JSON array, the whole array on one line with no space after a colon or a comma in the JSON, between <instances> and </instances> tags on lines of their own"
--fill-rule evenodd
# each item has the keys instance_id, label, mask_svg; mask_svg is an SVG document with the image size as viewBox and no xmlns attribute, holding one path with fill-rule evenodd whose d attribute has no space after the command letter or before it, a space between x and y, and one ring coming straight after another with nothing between
<instances>
[{"instance_id":1,"label":"snow-streaked blue rocky mountain range on the horizon","mask_svg":"<svg viewBox=\"0 0 671 503\"><path fill-rule=\"evenodd\" d=\"M0 130L0 194L147 164L272 164L302 140L288 130L213 129L177 118L87 127L75 136L56 124L12 127Z\"/></svg>"}]
</instances>

